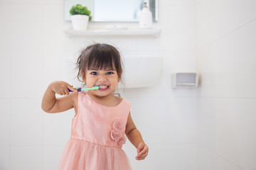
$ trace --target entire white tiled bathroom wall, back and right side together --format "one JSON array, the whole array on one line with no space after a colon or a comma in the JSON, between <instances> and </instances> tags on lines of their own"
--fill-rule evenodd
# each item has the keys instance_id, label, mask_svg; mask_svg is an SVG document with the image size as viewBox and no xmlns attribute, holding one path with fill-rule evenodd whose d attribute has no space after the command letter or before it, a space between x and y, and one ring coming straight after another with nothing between
<instances>
[{"instance_id":1,"label":"entire white tiled bathroom wall, back and right side together","mask_svg":"<svg viewBox=\"0 0 256 170\"><path fill-rule=\"evenodd\" d=\"M150 148L137 162L134 147L124 146L134 169L256 169L255 6L255 0L163 0L160 38L85 39L63 34L70 23L63 21L62 0L1 0L0 169L56 169L73 111L43 113L41 97L50 81L78 84L67 58L92 41L123 55L164 57L157 86L121 91ZM184 69L201 73L198 91L170 88L170 73Z\"/></svg>"}]
</instances>

